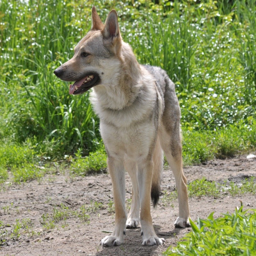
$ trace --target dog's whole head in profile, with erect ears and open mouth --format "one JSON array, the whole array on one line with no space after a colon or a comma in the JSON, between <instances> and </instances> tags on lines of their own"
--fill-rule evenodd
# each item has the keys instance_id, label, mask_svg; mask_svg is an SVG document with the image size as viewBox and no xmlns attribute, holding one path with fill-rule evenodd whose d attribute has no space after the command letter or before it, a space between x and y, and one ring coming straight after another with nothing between
<instances>
[{"instance_id":1,"label":"dog's whole head in profile, with erect ears and open mouth","mask_svg":"<svg viewBox=\"0 0 256 256\"><path fill-rule=\"evenodd\" d=\"M75 81L69 94L81 94L99 84L109 84L120 67L122 37L115 10L109 12L105 24L92 7L92 28L76 45L74 56L54 70L64 81Z\"/></svg>"}]
</instances>

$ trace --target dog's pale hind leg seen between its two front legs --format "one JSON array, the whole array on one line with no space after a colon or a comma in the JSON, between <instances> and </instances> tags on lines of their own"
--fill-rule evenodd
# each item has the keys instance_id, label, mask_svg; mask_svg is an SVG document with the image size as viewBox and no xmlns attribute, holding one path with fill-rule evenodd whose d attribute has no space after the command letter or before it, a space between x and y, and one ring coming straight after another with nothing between
<instances>
[{"instance_id":1,"label":"dog's pale hind leg seen between its two front legs","mask_svg":"<svg viewBox=\"0 0 256 256\"><path fill-rule=\"evenodd\" d=\"M132 204L126 221L126 228L137 228L140 222L140 196L137 179L137 165L134 161L124 159L125 170L129 173L132 181Z\"/></svg>"}]
</instances>

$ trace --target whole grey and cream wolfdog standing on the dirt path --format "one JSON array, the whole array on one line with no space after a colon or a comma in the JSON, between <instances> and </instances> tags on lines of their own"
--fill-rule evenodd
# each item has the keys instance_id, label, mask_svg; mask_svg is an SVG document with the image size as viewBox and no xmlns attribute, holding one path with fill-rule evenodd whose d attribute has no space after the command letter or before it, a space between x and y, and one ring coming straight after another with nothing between
<instances>
[{"instance_id":1,"label":"whole grey and cream wolfdog standing on the dirt path","mask_svg":"<svg viewBox=\"0 0 256 256\"><path fill-rule=\"evenodd\" d=\"M182 170L180 107L173 82L158 67L140 65L122 40L115 10L105 24L92 8L92 28L76 45L74 56L54 71L75 81L69 94L93 88L90 99L100 118L115 203L115 225L102 246L124 242L126 228L141 225L143 245L160 245L150 213L160 196L163 153L178 190L179 216L175 227L189 225L187 180ZM131 210L125 209L125 170L132 181Z\"/></svg>"}]
</instances>

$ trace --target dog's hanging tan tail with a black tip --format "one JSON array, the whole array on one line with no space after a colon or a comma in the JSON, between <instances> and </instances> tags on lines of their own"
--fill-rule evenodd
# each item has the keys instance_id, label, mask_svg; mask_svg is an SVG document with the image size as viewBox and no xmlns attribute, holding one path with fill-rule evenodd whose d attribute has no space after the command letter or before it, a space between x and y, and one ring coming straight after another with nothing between
<instances>
[{"instance_id":1,"label":"dog's hanging tan tail with a black tip","mask_svg":"<svg viewBox=\"0 0 256 256\"><path fill-rule=\"evenodd\" d=\"M153 162L154 162L154 172L152 178L152 185L151 185L151 200L153 206L156 207L156 204L159 200L161 195L161 178L162 178L162 170L163 170L163 150L160 145L159 138L156 140L156 148L153 155Z\"/></svg>"}]
</instances>

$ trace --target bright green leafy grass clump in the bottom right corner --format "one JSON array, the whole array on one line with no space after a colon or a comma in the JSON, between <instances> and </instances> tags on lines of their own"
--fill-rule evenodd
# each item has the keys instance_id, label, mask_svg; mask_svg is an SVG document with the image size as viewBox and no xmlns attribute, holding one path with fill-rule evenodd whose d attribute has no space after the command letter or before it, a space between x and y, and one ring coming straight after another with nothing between
<instances>
[{"instance_id":1,"label":"bright green leafy grass clump in the bottom right corner","mask_svg":"<svg viewBox=\"0 0 256 256\"><path fill-rule=\"evenodd\" d=\"M219 256L256 254L256 210L243 211L243 206L234 213L223 214L217 219L212 212L206 220L198 218L197 225L190 220L192 232L169 247L164 255Z\"/></svg>"}]
</instances>

